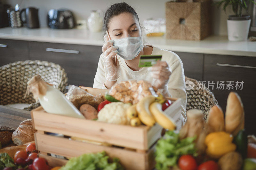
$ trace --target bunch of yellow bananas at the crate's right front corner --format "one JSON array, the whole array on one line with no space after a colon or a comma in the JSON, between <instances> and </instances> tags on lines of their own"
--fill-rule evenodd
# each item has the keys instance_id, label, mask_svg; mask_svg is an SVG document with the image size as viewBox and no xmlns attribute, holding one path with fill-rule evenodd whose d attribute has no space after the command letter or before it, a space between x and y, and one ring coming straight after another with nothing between
<instances>
[{"instance_id":1,"label":"bunch of yellow bananas at the crate's right front corner","mask_svg":"<svg viewBox=\"0 0 256 170\"><path fill-rule=\"evenodd\" d=\"M139 126L141 122L147 126L153 126L156 122L163 128L174 130L176 125L171 117L162 110L163 97L161 100L154 96L144 97L139 103L130 106L126 110L127 117L131 119L132 126Z\"/></svg>"}]
</instances>

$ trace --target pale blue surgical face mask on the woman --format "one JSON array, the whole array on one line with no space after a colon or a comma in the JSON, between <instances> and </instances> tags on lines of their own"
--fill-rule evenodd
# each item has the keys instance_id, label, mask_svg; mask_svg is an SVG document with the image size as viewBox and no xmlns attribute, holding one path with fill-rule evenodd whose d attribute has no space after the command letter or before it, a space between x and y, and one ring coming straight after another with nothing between
<instances>
[{"instance_id":1,"label":"pale blue surgical face mask on the woman","mask_svg":"<svg viewBox=\"0 0 256 170\"><path fill-rule=\"evenodd\" d=\"M124 60L132 60L139 55L143 46L142 36L114 39L114 46L117 46L118 55Z\"/></svg>"}]
</instances>

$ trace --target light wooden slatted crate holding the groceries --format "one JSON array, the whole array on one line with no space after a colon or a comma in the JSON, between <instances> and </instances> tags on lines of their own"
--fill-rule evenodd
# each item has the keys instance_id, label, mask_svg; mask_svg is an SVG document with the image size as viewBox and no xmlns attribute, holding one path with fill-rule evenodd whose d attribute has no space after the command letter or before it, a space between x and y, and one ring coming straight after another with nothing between
<instances>
[{"instance_id":1,"label":"light wooden slatted crate holding the groceries","mask_svg":"<svg viewBox=\"0 0 256 170\"><path fill-rule=\"evenodd\" d=\"M105 94L106 90L81 87L92 95ZM181 99L171 98L172 105L165 112L172 117L181 112ZM110 157L117 157L125 169L150 170L155 166L154 150L156 141L161 137L162 127L155 124L153 127L141 125L108 124L93 120L79 119L46 113L42 107L31 111L37 150L40 157L49 161L51 166L65 165L67 160L49 156L49 153L67 158L77 157L84 153L102 152ZM97 145L64 137L45 134L52 132L69 137L84 138L106 143ZM48 154L47 154L48 153Z\"/></svg>"}]
</instances>

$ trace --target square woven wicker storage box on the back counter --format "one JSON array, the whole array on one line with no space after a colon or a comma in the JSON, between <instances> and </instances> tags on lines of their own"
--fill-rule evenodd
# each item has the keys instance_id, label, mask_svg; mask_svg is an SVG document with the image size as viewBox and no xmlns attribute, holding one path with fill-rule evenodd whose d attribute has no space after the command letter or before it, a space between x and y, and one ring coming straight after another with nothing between
<instances>
[{"instance_id":1,"label":"square woven wicker storage box on the back counter","mask_svg":"<svg viewBox=\"0 0 256 170\"><path fill-rule=\"evenodd\" d=\"M210 5L210 0L166 2L166 38L201 40L210 35Z\"/></svg>"}]
</instances>

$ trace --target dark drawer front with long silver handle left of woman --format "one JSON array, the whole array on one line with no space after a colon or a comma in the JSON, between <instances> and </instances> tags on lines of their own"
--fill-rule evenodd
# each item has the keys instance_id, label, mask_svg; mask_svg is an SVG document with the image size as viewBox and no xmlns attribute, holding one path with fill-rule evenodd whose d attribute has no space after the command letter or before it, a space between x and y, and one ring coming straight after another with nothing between
<instances>
[{"instance_id":1,"label":"dark drawer front with long silver handle left of woman","mask_svg":"<svg viewBox=\"0 0 256 170\"><path fill-rule=\"evenodd\" d=\"M31 60L59 64L68 74L68 83L92 87L101 46L29 42Z\"/></svg>"}]
</instances>

